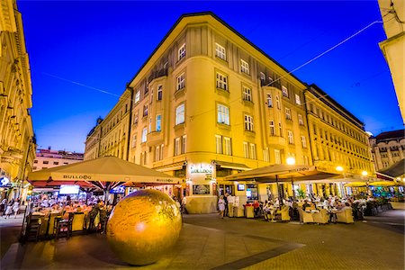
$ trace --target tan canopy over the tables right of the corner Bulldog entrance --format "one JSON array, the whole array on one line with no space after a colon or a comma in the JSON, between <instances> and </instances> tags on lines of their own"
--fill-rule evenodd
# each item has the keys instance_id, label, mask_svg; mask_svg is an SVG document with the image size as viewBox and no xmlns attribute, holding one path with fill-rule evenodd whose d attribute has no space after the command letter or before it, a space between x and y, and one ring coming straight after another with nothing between
<instances>
[{"instance_id":1,"label":"tan canopy over the tables right of the corner Bulldog entrance","mask_svg":"<svg viewBox=\"0 0 405 270\"><path fill-rule=\"evenodd\" d=\"M228 175L225 180L255 180L260 183L273 183L277 180L279 182L319 180L337 177L338 175L320 171L316 166L279 164L259 167L236 175Z\"/></svg>"}]
</instances>

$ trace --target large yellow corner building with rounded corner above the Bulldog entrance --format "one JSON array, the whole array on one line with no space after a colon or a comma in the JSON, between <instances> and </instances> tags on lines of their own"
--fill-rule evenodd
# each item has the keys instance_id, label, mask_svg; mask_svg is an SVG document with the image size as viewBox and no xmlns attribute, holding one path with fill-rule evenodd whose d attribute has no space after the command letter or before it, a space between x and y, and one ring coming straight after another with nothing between
<instances>
[{"instance_id":1,"label":"large yellow corner building with rounded corner above the Bulldog entrance","mask_svg":"<svg viewBox=\"0 0 405 270\"><path fill-rule=\"evenodd\" d=\"M219 193L244 202L277 194L275 184L238 190L226 175L287 157L313 165L308 85L214 14L182 16L128 87L128 160L182 178L192 212L216 211Z\"/></svg>"}]
</instances>

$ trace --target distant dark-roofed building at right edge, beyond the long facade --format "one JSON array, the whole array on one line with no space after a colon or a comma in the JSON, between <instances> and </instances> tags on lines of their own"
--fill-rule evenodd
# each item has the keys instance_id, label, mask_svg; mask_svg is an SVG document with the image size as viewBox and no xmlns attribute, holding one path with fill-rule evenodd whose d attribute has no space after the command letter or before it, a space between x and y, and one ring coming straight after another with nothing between
<instances>
[{"instance_id":1,"label":"distant dark-roofed building at right edge, beyond the long facade","mask_svg":"<svg viewBox=\"0 0 405 270\"><path fill-rule=\"evenodd\" d=\"M392 166L405 157L405 130L382 132L370 138L376 171Z\"/></svg>"}]
</instances>

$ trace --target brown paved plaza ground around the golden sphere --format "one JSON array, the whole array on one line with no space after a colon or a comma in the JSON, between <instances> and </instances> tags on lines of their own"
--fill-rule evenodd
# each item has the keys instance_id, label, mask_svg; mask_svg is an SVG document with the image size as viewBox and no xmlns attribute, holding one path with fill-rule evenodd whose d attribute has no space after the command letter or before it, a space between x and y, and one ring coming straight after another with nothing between
<instances>
[{"instance_id":1,"label":"brown paved plaza ground around the golden sphere","mask_svg":"<svg viewBox=\"0 0 405 270\"><path fill-rule=\"evenodd\" d=\"M4 235L19 234L17 223L22 218L2 219L2 249L7 250L2 250L0 268L404 269L405 211L403 203L393 206L395 210L354 224L302 225L244 218L222 220L217 214L185 215L175 247L149 266L121 262L100 234L22 245L13 242L15 235Z\"/></svg>"}]
</instances>

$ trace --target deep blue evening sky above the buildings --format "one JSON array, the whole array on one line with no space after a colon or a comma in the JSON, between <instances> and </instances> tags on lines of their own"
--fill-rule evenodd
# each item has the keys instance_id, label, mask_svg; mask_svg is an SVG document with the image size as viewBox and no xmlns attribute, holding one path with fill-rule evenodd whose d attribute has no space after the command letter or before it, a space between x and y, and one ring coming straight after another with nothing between
<instances>
[{"instance_id":1,"label":"deep blue evening sky above the buildings","mask_svg":"<svg viewBox=\"0 0 405 270\"><path fill-rule=\"evenodd\" d=\"M112 109L181 14L217 14L288 70L382 20L377 0L17 4L30 56L38 146L76 152L84 152L96 118ZM382 40L383 23L375 23L293 73L319 85L374 135L403 128L390 69L378 46Z\"/></svg>"}]
</instances>

